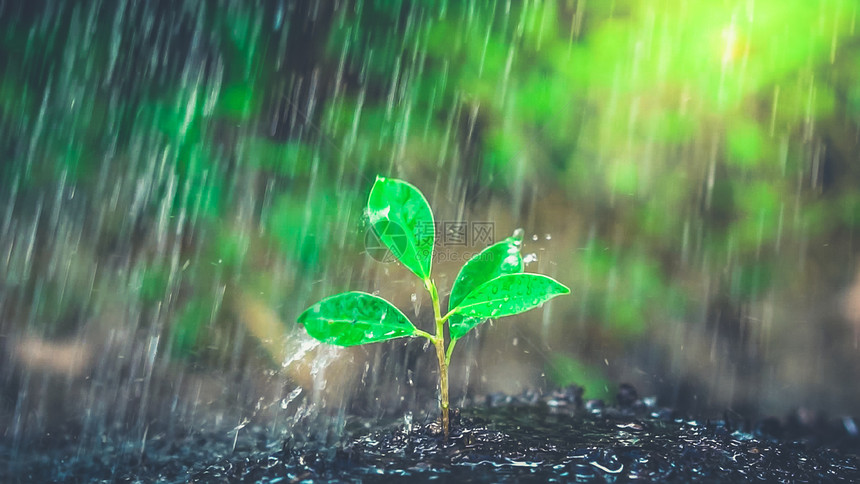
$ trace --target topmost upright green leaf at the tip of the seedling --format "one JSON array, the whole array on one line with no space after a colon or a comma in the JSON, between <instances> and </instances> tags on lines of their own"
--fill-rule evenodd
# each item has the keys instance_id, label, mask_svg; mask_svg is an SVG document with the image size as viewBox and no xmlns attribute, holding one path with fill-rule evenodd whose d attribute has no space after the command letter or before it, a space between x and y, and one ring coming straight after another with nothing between
<instances>
[{"instance_id":1,"label":"topmost upright green leaf at the tip of the seedling","mask_svg":"<svg viewBox=\"0 0 860 484\"><path fill-rule=\"evenodd\" d=\"M436 230L424 195L401 180L376 177L367 214L377 237L422 280L430 279Z\"/></svg>"}]
</instances>

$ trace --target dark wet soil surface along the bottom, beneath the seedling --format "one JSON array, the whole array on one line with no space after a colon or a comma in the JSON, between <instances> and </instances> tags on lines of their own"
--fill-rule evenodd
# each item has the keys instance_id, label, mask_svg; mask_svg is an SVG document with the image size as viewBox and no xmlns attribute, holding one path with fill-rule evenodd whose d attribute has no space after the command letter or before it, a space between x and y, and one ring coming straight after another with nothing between
<instances>
[{"instance_id":1,"label":"dark wet soil surface along the bottom, beneath the seedling","mask_svg":"<svg viewBox=\"0 0 860 484\"><path fill-rule=\"evenodd\" d=\"M619 404L582 402L571 388L549 395L494 395L455 415L447 443L437 422L409 419L361 430L330 449L272 442L247 429L106 442L97 454L10 455L3 482L854 482L860 436L854 419L798 412L755 424L693 421L622 386ZM71 444L71 442L70 442ZM79 454L79 453L78 453Z\"/></svg>"}]
</instances>

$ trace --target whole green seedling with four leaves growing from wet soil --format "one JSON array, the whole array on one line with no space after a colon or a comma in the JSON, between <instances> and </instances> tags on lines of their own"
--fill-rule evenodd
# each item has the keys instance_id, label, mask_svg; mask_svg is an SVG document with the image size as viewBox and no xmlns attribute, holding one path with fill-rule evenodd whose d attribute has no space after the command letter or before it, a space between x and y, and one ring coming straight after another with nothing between
<instances>
[{"instance_id":1,"label":"whole green seedling with four leaves growing from wet soil","mask_svg":"<svg viewBox=\"0 0 860 484\"><path fill-rule=\"evenodd\" d=\"M454 345L489 318L518 314L570 290L540 274L523 272L522 229L472 257L457 275L448 312L439 308L439 292L430 277L436 233L433 212L417 188L401 180L377 177L367 200L374 233L397 260L424 283L433 302L435 334L415 327L393 304L364 292L327 297L299 315L308 334L323 343L354 346L401 337L427 338L439 360L442 429L448 437L448 365ZM445 324L448 324L448 342Z\"/></svg>"}]
</instances>

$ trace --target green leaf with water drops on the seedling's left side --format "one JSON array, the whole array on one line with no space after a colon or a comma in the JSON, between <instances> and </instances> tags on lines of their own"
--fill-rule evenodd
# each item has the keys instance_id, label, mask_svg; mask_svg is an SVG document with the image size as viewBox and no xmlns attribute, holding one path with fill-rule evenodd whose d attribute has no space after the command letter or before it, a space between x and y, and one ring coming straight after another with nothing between
<instances>
[{"instance_id":1,"label":"green leaf with water drops on the seedling's left side","mask_svg":"<svg viewBox=\"0 0 860 484\"><path fill-rule=\"evenodd\" d=\"M413 336L415 326L381 297L343 292L307 308L298 322L314 338L338 346L355 346Z\"/></svg>"}]
</instances>

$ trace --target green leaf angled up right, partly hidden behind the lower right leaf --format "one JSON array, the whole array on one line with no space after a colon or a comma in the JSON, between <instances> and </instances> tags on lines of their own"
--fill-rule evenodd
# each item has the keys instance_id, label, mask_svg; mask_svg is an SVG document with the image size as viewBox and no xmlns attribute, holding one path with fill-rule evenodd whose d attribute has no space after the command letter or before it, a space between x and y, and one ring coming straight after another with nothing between
<instances>
[{"instance_id":1,"label":"green leaf angled up right, partly hidden behind the lower right leaf","mask_svg":"<svg viewBox=\"0 0 860 484\"><path fill-rule=\"evenodd\" d=\"M454 286L451 288L451 296L448 298L448 310L450 311L457 307L460 301L481 284L495 279L502 274L522 272L523 257L520 254L522 242L523 231L522 229L517 229L514 235L485 248L469 259L463 265L463 268L460 269L457 279L454 280ZM460 314L452 314L448 321L452 326L468 325L469 328L483 322L477 320L466 323L463 321L464 318L465 316Z\"/></svg>"}]
</instances>

